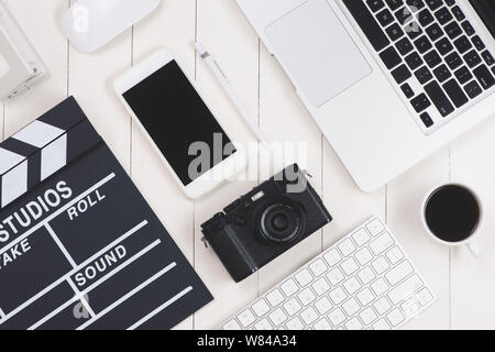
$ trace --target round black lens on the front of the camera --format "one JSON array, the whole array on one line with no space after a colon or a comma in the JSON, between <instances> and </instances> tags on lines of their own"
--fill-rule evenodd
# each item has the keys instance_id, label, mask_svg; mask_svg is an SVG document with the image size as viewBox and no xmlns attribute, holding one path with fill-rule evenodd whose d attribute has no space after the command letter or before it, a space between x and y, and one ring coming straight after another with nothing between
<instances>
[{"instance_id":1,"label":"round black lens on the front of the camera","mask_svg":"<svg viewBox=\"0 0 495 352\"><path fill-rule=\"evenodd\" d=\"M273 242L290 242L301 232L300 211L288 204L268 206L260 218L262 235Z\"/></svg>"}]
</instances>

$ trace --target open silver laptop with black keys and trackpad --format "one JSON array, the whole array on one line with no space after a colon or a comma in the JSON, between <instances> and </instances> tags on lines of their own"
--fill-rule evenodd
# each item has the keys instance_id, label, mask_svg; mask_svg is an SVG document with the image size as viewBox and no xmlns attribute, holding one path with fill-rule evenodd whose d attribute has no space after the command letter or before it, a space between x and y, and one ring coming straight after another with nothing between
<instances>
[{"instance_id":1,"label":"open silver laptop with black keys and trackpad","mask_svg":"<svg viewBox=\"0 0 495 352\"><path fill-rule=\"evenodd\" d=\"M495 113L493 0L237 0L374 191Z\"/></svg>"}]
</instances>

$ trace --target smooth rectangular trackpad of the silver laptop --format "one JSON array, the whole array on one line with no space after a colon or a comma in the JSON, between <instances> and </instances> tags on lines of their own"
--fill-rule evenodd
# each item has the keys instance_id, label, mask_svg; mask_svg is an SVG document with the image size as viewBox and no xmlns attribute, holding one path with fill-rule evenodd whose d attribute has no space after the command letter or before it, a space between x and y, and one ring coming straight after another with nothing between
<instances>
[{"instance_id":1,"label":"smooth rectangular trackpad of the silver laptop","mask_svg":"<svg viewBox=\"0 0 495 352\"><path fill-rule=\"evenodd\" d=\"M327 0L305 2L265 32L316 107L372 73Z\"/></svg>"}]
</instances>

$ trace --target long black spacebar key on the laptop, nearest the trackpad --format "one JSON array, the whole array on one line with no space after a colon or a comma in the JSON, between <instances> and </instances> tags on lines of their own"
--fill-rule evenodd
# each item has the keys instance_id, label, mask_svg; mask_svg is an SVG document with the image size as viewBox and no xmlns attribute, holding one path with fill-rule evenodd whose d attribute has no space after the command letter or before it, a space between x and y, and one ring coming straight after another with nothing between
<instances>
[{"instance_id":1,"label":"long black spacebar key on the laptop, nearest the trackpad","mask_svg":"<svg viewBox=\"0 0 495 352\"><path fill-rule=\"evenodd\" d=\"M391 44L385 32L378 25L378 22L376 22L362 0L343 0L343 3L349 12L351 12L375 51L381 52Z\"/></svg>"}]
</instances>

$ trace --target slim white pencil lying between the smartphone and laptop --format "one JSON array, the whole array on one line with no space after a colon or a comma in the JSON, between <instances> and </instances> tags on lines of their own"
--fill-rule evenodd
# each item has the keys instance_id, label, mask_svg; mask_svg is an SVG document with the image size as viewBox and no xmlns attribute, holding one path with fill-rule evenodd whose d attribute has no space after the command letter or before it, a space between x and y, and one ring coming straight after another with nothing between
<instances>
[{"instance_id":1,"label":"slim white pencil lying between the smartphone and laptop","mask_svg":"<svg viewBox=\"0 0 495 352\"><path fill-rule=\"evenodd\" d=\"M223 76L223 73L220 70L220 67L218 66L215 57L200 43L196 42L195 47L196 47L196 51L198 52L199 56L207 63L208 67L211 69L213 76L217 78L217 80L220 84L220 86L222 87L222 89L229 96L232 103L239 110L239 113L244 119L245 123L248 123L251 131L256 135L256 139L262 143L266 143L265 139L262 135L260 128L254 123L254 120L249 116L248 111L242 106L238 96L230 88L230 85L227 81L226 77Z\"/></svg>"}]
</instances>

